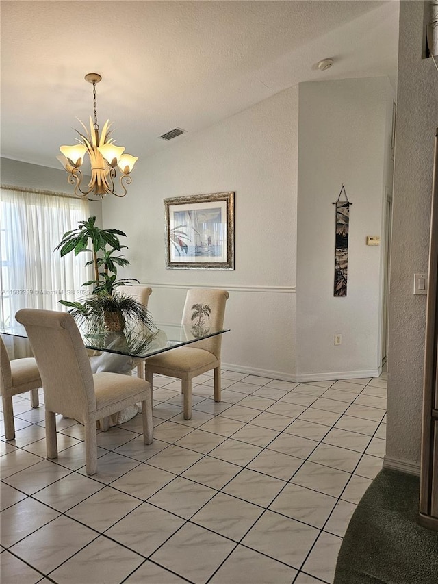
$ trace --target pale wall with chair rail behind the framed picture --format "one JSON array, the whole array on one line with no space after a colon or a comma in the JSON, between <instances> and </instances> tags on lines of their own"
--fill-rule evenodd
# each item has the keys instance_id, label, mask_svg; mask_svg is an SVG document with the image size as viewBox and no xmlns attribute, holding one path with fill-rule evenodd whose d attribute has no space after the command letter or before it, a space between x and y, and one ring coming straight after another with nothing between
<instances>
[{"instance_id":1,"label":"pale wall with chair rail behind the framed picture","mask_svg":"<svg viewBox=\"0 0 438 584\"><path fill-rule=\"evenodd\" d=\"M290 88L140 157L127 196L103 201L105 227L128 234L123 275L152 286L156 320L178 321L190 286L226 288L224 366L282 379L295 374L297 140ZM224 191L235 191L235 270L166 270L163 200Z\"/></svg>"}]
</instances>

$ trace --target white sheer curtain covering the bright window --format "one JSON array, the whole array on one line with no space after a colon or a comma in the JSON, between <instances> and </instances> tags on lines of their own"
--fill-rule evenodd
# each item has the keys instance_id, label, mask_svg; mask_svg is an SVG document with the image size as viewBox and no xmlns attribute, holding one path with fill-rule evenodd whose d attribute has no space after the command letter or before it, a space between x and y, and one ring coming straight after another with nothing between
<instances>
[{"instance_id":1,"label":"white sheer curtain covering the bright window","mask_svg":"<svg viewBox=\"0 0 438 584\"><path fill-rule=\"evenodd\" d=\"M18 309L61 310L59 300L86 294L85 254L60 257L62 236L88 218L88 201L62 193L0 188L0 325L16 324Z\"/></svg>"}]
</instances>

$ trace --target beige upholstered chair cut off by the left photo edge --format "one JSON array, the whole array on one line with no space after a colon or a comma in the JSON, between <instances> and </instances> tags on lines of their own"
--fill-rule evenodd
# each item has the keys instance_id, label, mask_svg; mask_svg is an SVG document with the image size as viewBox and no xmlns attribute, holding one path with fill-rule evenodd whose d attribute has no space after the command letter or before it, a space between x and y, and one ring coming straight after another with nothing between
<instances>
[{"instance_id":1,"label":"beige upholstered chair cut off by the left photo edge","mask_svg":"<svg viewBox=\"0 0 438 584\"><path fill-rule=\"evenodd\" d=\"M9 360L3 339L0 337L0 393L3 401L3 417L6 440L14 440L15 424L12 396L30 393L31 407L38 407L38 388L42 381L34 357Z\"/></svg>"}]
</instances>

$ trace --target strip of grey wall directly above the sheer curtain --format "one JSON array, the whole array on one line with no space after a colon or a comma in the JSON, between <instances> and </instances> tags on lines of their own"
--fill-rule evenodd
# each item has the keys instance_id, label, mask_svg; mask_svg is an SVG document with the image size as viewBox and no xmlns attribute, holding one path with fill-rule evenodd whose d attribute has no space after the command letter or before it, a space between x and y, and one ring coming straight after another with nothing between
<instances>
[{"instance_id":1,"label":"strip of grey wall directly above the sheer curtain","mask_svg":"<svg viewBox=\"0 0 438 584\"><path fill-rule=\"evenodd\" d=\"M67 173L60 168L47 168L38 164L29 164L11 160L0 159L0 182L8 186L21 186L38 190L51 190L53 192L71 193L73 187L67 182ZM99 224L102 220L101 201L89 201L90 216L95 215Z\"/></svg>"}]
</instances>

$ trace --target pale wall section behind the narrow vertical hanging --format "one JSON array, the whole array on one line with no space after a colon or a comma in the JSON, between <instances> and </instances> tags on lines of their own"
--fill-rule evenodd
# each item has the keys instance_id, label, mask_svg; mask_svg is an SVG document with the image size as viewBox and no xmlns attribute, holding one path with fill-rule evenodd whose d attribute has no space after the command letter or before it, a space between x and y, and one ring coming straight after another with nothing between
<instances>
[{"instance_id":1,"label":"pale wall section behind the narrow vertical hanging","mask_svg":"<svg viewBox=\"0 0 438 584\"><path fill-rule=\"evenodd\" d=\"M389 79L299 86L297 379L348 379L381 366L385 187L393 90ZM333 296L335 205L342 183L350 207L347 296ZM335 333L342 344L334 345Z\"/></svg>"}]
</instances>

